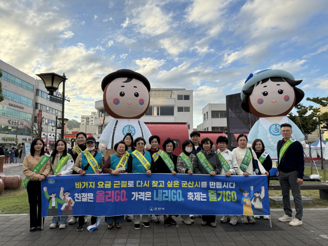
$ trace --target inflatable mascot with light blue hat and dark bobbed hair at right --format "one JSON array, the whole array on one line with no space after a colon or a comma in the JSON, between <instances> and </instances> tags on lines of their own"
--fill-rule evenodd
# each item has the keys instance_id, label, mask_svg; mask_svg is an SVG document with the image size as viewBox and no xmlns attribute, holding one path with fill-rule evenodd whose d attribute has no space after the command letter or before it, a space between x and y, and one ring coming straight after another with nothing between
<instances>
[{"instance_id":1,"label":"inflatable mascot with light blue hat and dark bobbed hair at right","mask_svg":"<svg viewBox=\"0 0 328 246\"><path fill-rule=\"evenodd\" d=\"M277 159L277 142L283 138L280 133L282 123L292 125L292 137L305 147L302 131L287 117L304 98L304 92L295 87L301 82L295 81L287 71L266 69L250 74L241 89L241 107L260 118L248 134L248 143L262 139L265 151L273 159Z\"/></svg>"}]
</instances>

